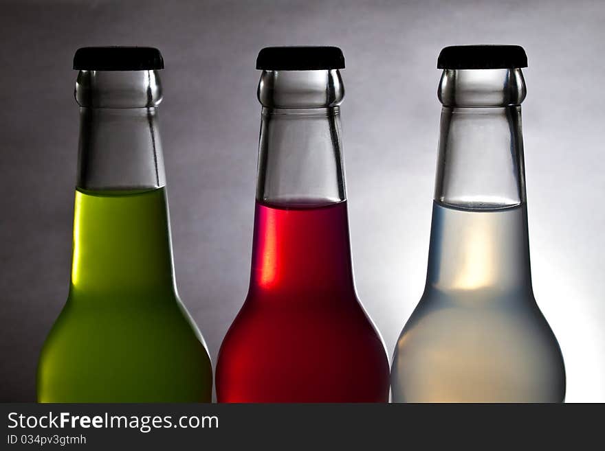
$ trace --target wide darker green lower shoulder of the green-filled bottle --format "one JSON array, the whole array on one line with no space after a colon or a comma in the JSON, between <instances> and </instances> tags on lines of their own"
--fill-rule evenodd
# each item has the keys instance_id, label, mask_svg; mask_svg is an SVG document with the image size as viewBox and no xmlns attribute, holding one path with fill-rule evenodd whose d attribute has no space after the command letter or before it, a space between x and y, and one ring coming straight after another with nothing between
<instances>
[{"instance_id":1,"label":"wide darker green lower shoulder of the green-filled bottle","mask_svg":"<svg viewBox=\"0 0 605 451\"><path fill-rule=\"evenodd\" d=\"M122 301L65 304L41 351L39 400L210 402L210 356L176 298Z\"/></svg>"}]
</instances>

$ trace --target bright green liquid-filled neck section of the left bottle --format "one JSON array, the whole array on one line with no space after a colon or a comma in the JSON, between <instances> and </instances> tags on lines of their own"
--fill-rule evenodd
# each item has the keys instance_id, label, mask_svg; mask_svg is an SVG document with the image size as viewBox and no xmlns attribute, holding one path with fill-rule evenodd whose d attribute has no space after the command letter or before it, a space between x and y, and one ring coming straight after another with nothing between
<instances>
[{"instance_id":1,"label":"bright green liquid-filled neck section of the left bottle","mask_svg":"<svg viewBox=\"0 0 605 451\"><path fill-rule=\"evenodd\" d=\"M165 189L77 189L70 298L148 302L174 293Z\"/></svg>"}]
</instances>

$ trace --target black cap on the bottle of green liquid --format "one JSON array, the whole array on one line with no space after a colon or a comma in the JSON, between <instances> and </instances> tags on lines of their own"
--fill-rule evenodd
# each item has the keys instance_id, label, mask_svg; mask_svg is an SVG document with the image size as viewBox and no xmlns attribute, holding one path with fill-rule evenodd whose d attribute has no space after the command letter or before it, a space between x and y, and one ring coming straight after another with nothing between
<instances>
[{"instance_id":1,"label":"black cap on the bottle of green liquid","mask_svg":"<svg viewBox=\"0 0 605 451\"><path fill-rule=\"evenodd\" d=\"M80 71L151 71L164 69L164 59L153 47L82 47L74 55Z\"/></svg>"}]
</instances>

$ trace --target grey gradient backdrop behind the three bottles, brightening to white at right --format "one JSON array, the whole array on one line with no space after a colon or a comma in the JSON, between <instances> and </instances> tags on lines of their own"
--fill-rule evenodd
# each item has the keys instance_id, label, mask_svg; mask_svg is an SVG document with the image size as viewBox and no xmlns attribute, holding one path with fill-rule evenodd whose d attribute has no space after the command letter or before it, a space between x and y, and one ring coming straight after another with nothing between
<instances>
[{"instance_id":1,"label":"grey gradient backdrop behind the three bottles, brightening to white at right","mask_svg":"<svg viewBox=\"0 0 605 451\"><path fill-rule=\"evenodd\" d=\"M77 47L153 45L164 54L177 282L216 361L248 288L258 50L344 50L355 277L391 354L426 275L437 54L514 43L529 56L523 126L536 297L562 347L567 400L605 401L604 2L0 3L0 400L34 400L39 349L67 295Z\"/></svg>"}]
</instances>

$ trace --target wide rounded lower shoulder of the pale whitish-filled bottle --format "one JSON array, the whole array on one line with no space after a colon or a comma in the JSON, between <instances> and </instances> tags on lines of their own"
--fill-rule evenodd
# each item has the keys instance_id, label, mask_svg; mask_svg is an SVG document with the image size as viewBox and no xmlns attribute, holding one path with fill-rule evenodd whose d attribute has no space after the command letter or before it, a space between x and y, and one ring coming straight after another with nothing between
<instances>
[{"instance_id":1,"label":"wide rounded lower shoulder of the pale whitish-filled bottle","mask_svg":"<svg viewBox=\"0 0 605 451\"><path fill-rule=\"evenodd\" d=\"M531 294L448 299L426 292L393 356L393 400L561 402L558 342Z\"/></svg>"}]
</instances>

